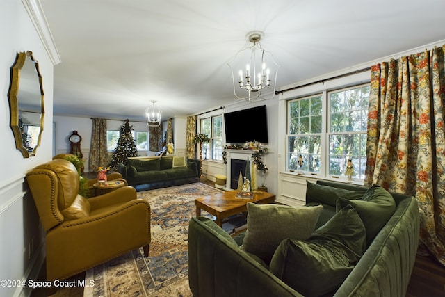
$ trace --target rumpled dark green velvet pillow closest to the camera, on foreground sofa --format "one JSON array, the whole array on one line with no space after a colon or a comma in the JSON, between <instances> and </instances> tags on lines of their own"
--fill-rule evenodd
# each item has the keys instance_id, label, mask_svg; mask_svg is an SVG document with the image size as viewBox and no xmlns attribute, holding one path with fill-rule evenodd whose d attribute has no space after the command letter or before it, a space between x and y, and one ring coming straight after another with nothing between
<instances>
[{"instance_id":1,"label":"rumpled dark green velvet pillow closest to the camera, on foreground sofa","mask_svg":"<svg viewBox=\"0 0 445 297\"><path fill-rule=\"evenodd\" d=\"M362 220L346 207L306 241L282 241L270 271L304 296L332 295L362 257L365 241Z\"/></svg>"}]
</instances>

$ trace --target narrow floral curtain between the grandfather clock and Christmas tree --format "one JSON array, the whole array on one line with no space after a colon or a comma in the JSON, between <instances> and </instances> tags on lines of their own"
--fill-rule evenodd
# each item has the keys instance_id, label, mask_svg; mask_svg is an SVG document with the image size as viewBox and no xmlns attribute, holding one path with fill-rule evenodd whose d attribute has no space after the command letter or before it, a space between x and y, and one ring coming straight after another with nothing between
<instances>
[{"instance_id":1,"label":"narrow floral curtain between the grandfather clock and Christmas tree","mask_svg":"<svg viewBox=\"0 0 445 297\"><path fill-rule=\"evenodd\" d=\"M96 172L98 167L108 165L106 147L106 119L93 118L89 167L90 172Z\"/></svg>"}]
</instances>

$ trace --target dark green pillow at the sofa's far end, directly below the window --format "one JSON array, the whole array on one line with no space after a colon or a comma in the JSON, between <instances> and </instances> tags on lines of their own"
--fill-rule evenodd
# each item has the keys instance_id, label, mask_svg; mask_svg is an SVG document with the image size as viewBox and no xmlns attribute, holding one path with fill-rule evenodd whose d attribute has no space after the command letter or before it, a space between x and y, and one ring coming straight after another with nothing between
<instances>
[{"instance_id":1,"label":"dark green pillow at the sofa's far end, directly below the window","mask_svg":"<svg viewBox=\"0 0 445 297\"><path fill-rule=\"evenodd\" d=\"M324 186L306 181L306 203L317 202L334 207L335 202L339 198L348 200L360 199L365 191L351 191L345 188L334 188L333 186Z\"/></svg>"}]
</instances>

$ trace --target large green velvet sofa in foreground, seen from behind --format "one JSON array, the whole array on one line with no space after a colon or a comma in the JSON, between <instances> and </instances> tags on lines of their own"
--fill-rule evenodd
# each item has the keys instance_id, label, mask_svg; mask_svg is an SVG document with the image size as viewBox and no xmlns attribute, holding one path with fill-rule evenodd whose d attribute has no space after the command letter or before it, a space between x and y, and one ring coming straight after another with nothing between
<instances>
[{"instance_id":1,"label":"large green velvet sofa in foreground, seen from behind","mask_svg":"<svg viewBox=\"0 0 445 297\"><path fill-rule=\"evenodd\" d=\"M318 181L315 189L313 185L308 184L307 205L322 204L323 211L312 236L318 230L323 230L330 218L334 218L339 212L338 198L343 193L356 192L357 195L353 195L355 197L346 199L360 200L359 197L368 190L362 186L336 182ZM323 193L323 187L330 193ZM375 219L375 225L378 226L374 230L376 235L371 238L363 235L364 242L366 241L364 252L351 268L352 271L346 279L341 280L339 287L323 296L405 296L419 243L419 209L412 196L397 193L388 195L389 198L394 198L394 213L391 211L388 219ZM351 211L350 208L345 207ZM360 216L357 221L362 224L362 221L369 219L362 220ZM369 236L369 232L366 232L366 236ZM193 296L310 296L303 295L293 289L289 282L278 278L270 269L272 264L270 267L261 264L240 248L244 237L245 234L234 238L227 236L208 218L190 220L188 276ZM323 262L325 260L320 261ZM300 262L296 262L294 266L296 271L307 268ZM325 282L329 277L320 273L312 282L317 286L318 282Z\"/></svg>"}]
</instances>

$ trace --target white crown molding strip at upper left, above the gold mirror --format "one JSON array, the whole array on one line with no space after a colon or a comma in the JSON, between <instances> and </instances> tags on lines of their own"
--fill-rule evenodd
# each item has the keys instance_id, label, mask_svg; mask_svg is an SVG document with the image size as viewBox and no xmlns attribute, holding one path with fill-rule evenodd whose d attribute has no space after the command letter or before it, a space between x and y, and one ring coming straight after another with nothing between
<instances>
[{"instance_id":1,"label":"white crown molding strip at upper left, above the gold mirror","mask_svg":"<svg viewBox=\"0 0 445 297\"><path fill-rule=\"evenodd\" d=\"M60 63L60 56L54 42L53 35L49 29L47 17L45 17L40 0L22 0L26 12L33 22L34 28L37 31L44 49L46 49L49 58L53 65Z\"/></svg>"}]
</instances>

